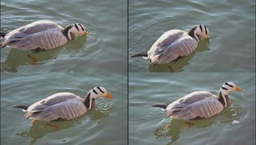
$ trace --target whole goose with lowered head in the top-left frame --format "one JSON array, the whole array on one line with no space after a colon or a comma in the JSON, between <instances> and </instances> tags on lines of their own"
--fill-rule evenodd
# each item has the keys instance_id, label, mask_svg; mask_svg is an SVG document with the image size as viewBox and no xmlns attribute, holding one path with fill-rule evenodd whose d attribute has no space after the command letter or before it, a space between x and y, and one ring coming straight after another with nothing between
<instances>
[{"instance_id":1,"label":"whole goose with lowered head in the top-left frame","mask_svg":"<svg viewBox=\"0 0 256 145\"><path fill-rule=\"evenodd\" d=\"M81 24L63 28L53 21L35 21L9 33L1 32L1 48L10 46L21 50L51 50L66 44L76 36L86 35Z\"/></svg>"}]
</instances>

